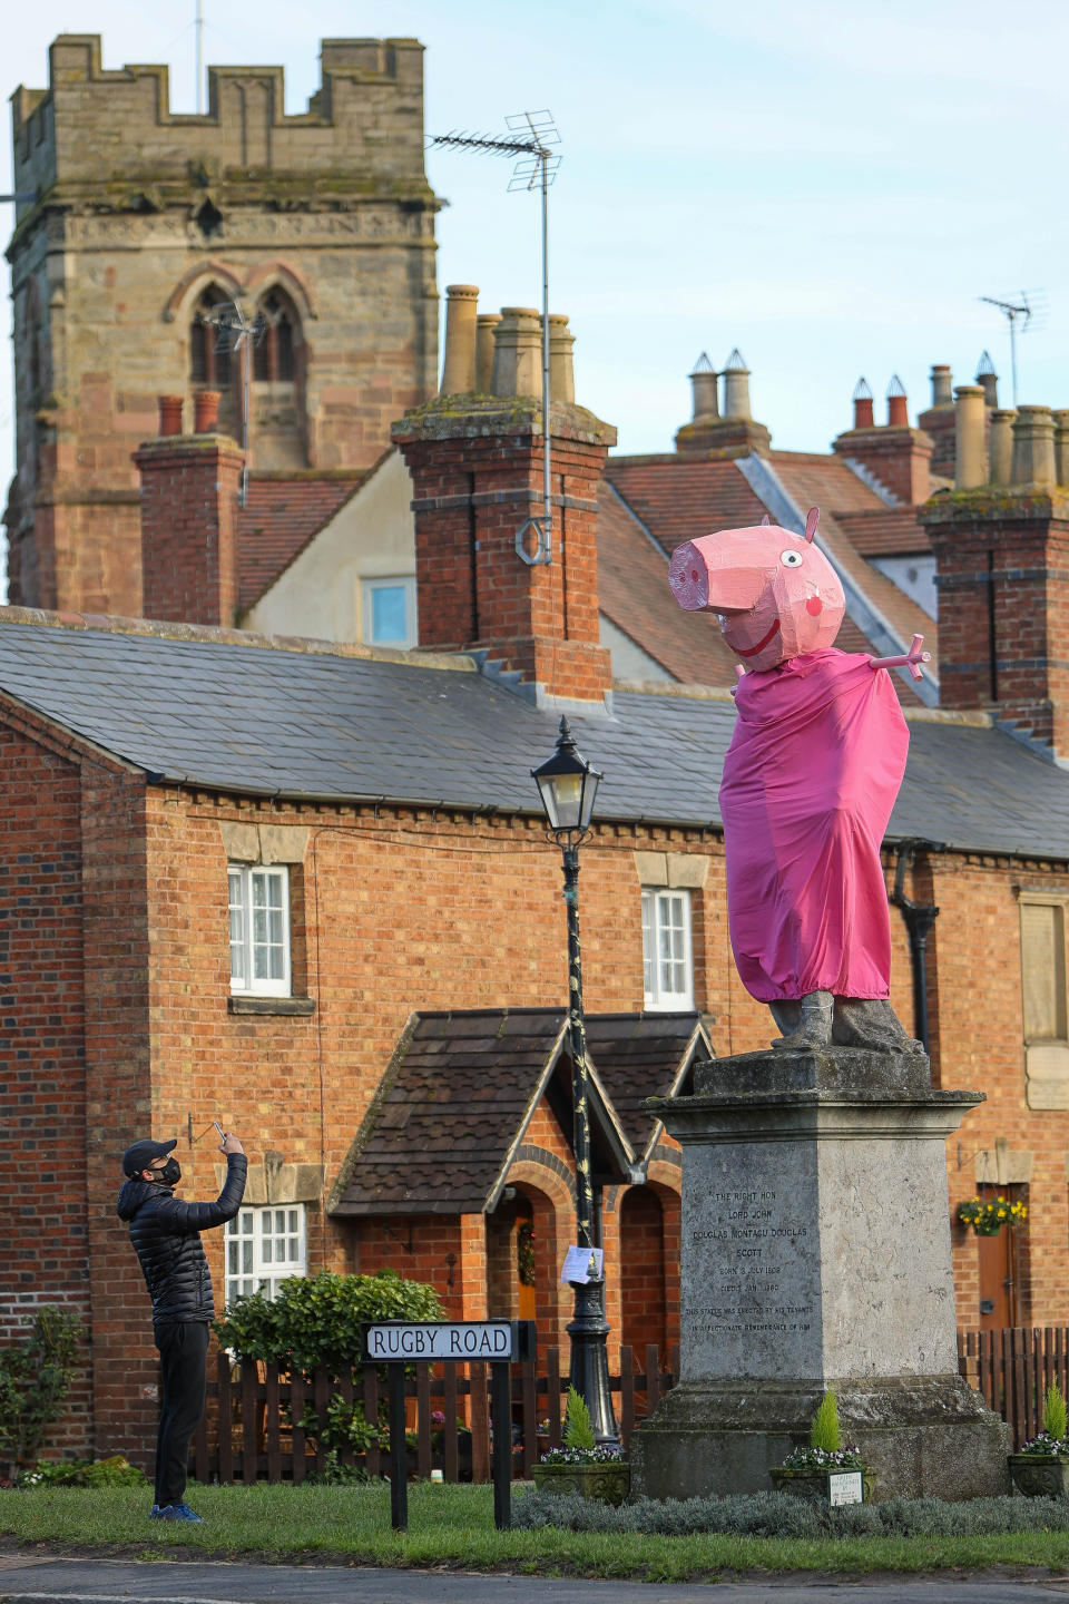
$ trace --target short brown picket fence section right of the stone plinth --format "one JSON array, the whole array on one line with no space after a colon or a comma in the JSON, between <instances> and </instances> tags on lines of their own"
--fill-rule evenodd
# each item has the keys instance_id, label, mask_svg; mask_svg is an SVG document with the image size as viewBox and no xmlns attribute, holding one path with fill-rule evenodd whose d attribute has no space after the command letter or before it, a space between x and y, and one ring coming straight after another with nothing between
<instances>
[{"instance_id":1,"label":"short brown picket fence section right of the stone plinth","mask_svg":"<svg viewBox=\"0 0 1069 1604\"><path fill-rule=\"evenodd\" d=\"M1069 1325L958 1331L958 1370L987 1408L1002 1415L1016 1450L1043 1429L1050 1383L1069 1397Z\"/></svg>"}]
</instances>

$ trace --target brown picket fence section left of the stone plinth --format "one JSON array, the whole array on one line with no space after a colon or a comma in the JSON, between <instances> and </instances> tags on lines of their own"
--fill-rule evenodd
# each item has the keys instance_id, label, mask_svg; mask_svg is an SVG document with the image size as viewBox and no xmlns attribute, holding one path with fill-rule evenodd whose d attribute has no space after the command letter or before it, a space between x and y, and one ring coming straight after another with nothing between
<instances>
[{"instance_id":1,"label":"brown picket fence section left of the stone plinth","mask_svg":"<svg viewBox=\"0 0 1069 1604\"><path fill-rule=\"evenodd\" d=\"M620 1437L627 1447L635 1421L651 1413L662 1392L676 1384L678 1349L672 1352L672 1370L662 1371L656 1344L643 1354L644 1370L636 1370L638 1355L620 1349L620 1375L611 1376L612 1402ZM405 1381L409 1426L415 1437L409 1448L409 1469L430 1477L441 1469L447 1482L490 1479L492 1421L489 1407L489 1367L417 1365ZM535 1373L535 1362L513 1365L513 1474L526 1476L539 1455L561 1442L563 1400L567 1394L567 1368L561 1371L558 1347L545 1349ZM361 1370L335 1376L317 1370L311 1381L279 1375L277 1363L245 1360L232 1365L226 1354L216 1360L208 1381L208 1405L192 1440L191 1471L202 1482L303 1482L322 1472L327 1447L321 1436L303 1421L308 1410L321 1423L327 1421L332 1397L345 1404L359 1400L364 1418L378 1420L386 1384L381 1370ZM433 1421L441 1415L442 1421ZM466 1429L458 1429L462 1421ZM369 1476L385 1474L388 1456L378 1447L365 1453L346 1448L340 1460L359 1466Z\"/></svg>"}]
</instances>

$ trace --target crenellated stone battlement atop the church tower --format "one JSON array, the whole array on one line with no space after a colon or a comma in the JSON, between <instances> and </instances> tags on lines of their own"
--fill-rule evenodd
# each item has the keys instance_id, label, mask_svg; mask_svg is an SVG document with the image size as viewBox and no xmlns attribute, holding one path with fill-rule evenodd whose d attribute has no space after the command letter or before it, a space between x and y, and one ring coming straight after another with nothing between
<instances>
[{"instance_id":1,"label":"crenellated stone battlement atop the church tower","mask_svg":"<svg viewBox=\"0 0 1069 1604\"><path fill-rule=\"evenodd\" d=\"M101 183L152 186L313 180L314 192L426 194L423 47L415 38L325 38L306 112L287 115L282 67L208 67L208 111L170 109L165 66L101 67L99 34L61 34L48 88L11 96L14 184L40 196ZM284 197L276 197L284 199ZM303 194L306 200L308 196ZM122 194L114 205L123 209ZM22 205L19 217L29 209Z\"/></svg>"}]
</instances>

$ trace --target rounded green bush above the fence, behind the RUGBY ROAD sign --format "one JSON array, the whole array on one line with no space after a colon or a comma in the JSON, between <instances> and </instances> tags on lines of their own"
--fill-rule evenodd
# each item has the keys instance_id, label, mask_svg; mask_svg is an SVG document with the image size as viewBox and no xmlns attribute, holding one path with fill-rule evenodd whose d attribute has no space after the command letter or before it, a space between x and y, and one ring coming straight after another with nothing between
<instances>
[{"instance_id":1,"label":"rounded green bush above the fence, behind the RUGBY ROAD sign","mask_svg":"<svg viewBox=\"0 0 1069 1604\"><path fill-rule=\"evenodd\" d=\"M361 1327L369 1320L441 1320L433 1286L405 1282L396 1270L377 1275L292 1275L277 1296L250 1293L228 1304L215 1322L223 1347L239 1359L277 1360L282 1370L311 1376L325 1365L361 1363Z\"/></svg>"}]
</instances>

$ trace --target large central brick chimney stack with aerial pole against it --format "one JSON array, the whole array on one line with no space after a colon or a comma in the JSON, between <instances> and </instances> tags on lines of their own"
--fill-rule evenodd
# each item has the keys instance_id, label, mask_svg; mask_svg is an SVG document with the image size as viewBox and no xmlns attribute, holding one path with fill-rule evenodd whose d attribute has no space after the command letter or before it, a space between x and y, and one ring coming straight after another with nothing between
<instances>
[{"instance_id":1,"label":"large central brick chimney stack with aerial pole against it","mask_svg":"<svg viewBox=\"0 0 1069 1604\"><path fill-rule=\"evenodd\" d=\"M550 324L551 560L532 563L542 520L542 319L506 306L494 330L492 393L450 395L393 427L413 480L420 646L484 651L540 706L604 706L598 489L615 430L571 401L572 335ZM476 380L486 375L486 350Z\"/></svg>"}]
</instances>

